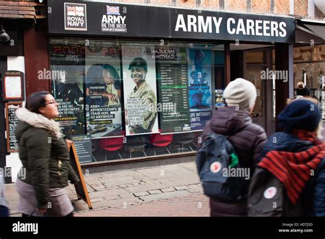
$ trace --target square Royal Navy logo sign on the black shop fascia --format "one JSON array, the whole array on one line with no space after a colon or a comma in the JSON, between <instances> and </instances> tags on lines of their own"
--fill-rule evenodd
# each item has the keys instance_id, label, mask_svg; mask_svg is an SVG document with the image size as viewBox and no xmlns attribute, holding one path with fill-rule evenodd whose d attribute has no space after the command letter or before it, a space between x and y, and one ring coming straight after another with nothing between
<instances>
[{"instance_id":1,"label":"square Royal Navy logo sign on the black shop fascia","mask_svg":"<svg viewBox=\"0 0 325 239\"><path fill-rule=\"evenodd\" d=\"M87 30L86 4L64 3L64 30Z\"/></svg>"}]
</instances>

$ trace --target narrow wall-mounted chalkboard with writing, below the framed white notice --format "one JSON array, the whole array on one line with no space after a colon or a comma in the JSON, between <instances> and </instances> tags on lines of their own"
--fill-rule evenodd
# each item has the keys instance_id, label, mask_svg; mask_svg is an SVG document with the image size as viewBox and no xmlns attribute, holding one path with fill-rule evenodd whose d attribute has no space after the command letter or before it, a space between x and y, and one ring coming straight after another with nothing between
<instances>
[{"instance_id":1,"label":"narrow wall-mounted chalkboard with writing, below the framed white notice","mask_svg":"<svg viewBox=\"0 0 325 239\"><path fill-rule=\"evenodd\" d=\"M18 142L15 135L18 118L16 110L21 108L21 102L5 103L5 130L7 132L7 152L18 152Z\"/></svg>"}]
</instances>

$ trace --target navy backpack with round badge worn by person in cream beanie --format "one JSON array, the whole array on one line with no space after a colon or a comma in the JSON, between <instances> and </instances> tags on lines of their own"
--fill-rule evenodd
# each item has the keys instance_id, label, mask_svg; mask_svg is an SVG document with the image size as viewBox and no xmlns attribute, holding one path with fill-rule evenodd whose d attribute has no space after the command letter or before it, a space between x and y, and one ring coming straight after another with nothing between
<instances>
[{"instance_id":1,"label":"navy backpack with round badge worn by person in cream beanie","mask_svg":"<svg viewBox=\"0 0 325 239\"><path fill-rule=\"evenodd\" d=\"M230 170L233 172L241 168L237 154L226 136L210 133L197 151L195 161L204 194L224 202L245 199L249 181L245 177L231 176Z\"/></svg>"}]
</instances>

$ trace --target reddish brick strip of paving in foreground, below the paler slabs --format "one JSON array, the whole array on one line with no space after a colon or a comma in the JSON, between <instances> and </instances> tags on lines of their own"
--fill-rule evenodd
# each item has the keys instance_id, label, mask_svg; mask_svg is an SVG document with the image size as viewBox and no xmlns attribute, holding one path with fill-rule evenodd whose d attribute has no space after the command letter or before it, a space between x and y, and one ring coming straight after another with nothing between
<instances>
[{"instance_id":1,"label":"reddish brick strip of paving in foreground, below the paler slabs","mask_svg":"<svg viewBox=\"0 0 325 239\"><path fill-rule=\"evenodd\" d=\"M203 194L190 194L133 205L77 212L75 216L210 216L208 198Z\"/></svg>"}]
</instances>

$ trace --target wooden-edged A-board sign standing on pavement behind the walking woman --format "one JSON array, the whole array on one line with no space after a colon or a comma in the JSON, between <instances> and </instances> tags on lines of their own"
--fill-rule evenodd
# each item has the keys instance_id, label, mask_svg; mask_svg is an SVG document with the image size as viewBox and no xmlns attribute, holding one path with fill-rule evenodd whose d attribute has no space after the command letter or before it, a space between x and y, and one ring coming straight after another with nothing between
<instances>
[{"instance_id":1,"label":"wooden-edged A-board sign standing on pavement behind the walking woman","mask_svg":"<svg viewBox=\"0 0 325 239\"><path fill-rule=\"evenodd\" d=\"M73 142L68 142L68 150L70 153L70 163L75 170L75 173L79 177L80 181L78 183L75 183L75 192L77 192L77 198L84 200L88 204L89 209L93 209L93 206L91 205L91 199L88 195L88 190L86 187L86 183L84 181L84 174L82 174L82 169L80 167L77 150L75 150L75 144Z\"/></svg>"}]
</instances>

